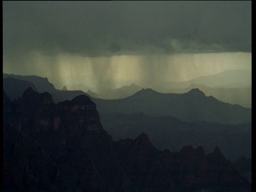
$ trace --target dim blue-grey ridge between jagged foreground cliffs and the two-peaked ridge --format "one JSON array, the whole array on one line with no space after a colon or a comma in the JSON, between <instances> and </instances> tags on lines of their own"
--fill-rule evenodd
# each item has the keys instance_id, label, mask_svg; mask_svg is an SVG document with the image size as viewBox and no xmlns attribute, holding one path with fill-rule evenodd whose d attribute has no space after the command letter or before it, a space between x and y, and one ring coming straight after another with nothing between
<instances>
[{"instance_id":1,"label":"dim blue-grey ridge between jagged foreground cliffs and the two-peaked ridge","mask_svg":"<svg viewBox=\"0 0 256 192\"><path fill-rule=\"evenodd\" d=\"M143 113L101 114L100 119L114 140L134 139L144 132L160 150L180 151L186 145L202 145L210 153L215 146L221 146L223 155L231 161L242 155L251 157L251 123L185 122L171 116L148 116Z\"/></svg>"}]
</instances>

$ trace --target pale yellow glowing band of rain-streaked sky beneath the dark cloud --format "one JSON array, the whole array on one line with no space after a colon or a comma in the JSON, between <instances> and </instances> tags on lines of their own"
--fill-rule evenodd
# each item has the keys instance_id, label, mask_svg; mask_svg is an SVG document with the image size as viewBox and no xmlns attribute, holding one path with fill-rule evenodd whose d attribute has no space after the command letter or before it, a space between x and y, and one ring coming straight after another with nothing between
<instances>
[{"instance_id":1,"label":"pale yellow glowing band of rain-streaked sky beneath the dark cloud","mask_svg":"<svg viewBox=\"0 0 256 192\"><path fill-rule=\"evenodd\" d=\"M31 52L19 67L4 62L3 72L47 77L58 89L84 84L95 89L114 89L131 83L156 85L182 82L231 69L251 70L251 53L183 53L83 57L60 53ZM10 65L13 66L13 65Z\"/></svg>"}]
</instances>

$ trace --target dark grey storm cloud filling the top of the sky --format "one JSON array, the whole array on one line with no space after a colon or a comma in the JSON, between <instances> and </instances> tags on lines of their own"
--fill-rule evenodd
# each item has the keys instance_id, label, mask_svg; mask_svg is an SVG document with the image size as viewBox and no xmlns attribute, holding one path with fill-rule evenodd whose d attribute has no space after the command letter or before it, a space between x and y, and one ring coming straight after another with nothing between
<instances>
[{"instance_id":1,"label":"dark grey storm cloud filling the top of the sky","mask_svg":"<svg viewBox=\"0 0 256 192\"><path fill-rule=\"evenodd\" d=\"M4 2L4 53L251 51L250 1Z\"/></svg>"}]
</instances>

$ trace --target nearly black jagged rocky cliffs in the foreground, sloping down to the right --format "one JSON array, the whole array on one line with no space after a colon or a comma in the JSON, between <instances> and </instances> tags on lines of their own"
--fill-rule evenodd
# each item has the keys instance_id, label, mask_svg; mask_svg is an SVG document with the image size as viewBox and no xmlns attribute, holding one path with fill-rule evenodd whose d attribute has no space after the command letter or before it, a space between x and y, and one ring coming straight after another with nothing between
<instances>
[{"instance_id":1,"label":"nearly black jagged rocky cliffs in the foreground, sloping down to the right","mask_svg":"<svg viewBox=\"0 0 256 192\"><path fill-rule=\"evenodd\" d=\"M29 88L3 104L6 191L250 191L218 148L159 151L143 133L114 142L85 95L55 105Z\"/></svg>"}]
</instances>

